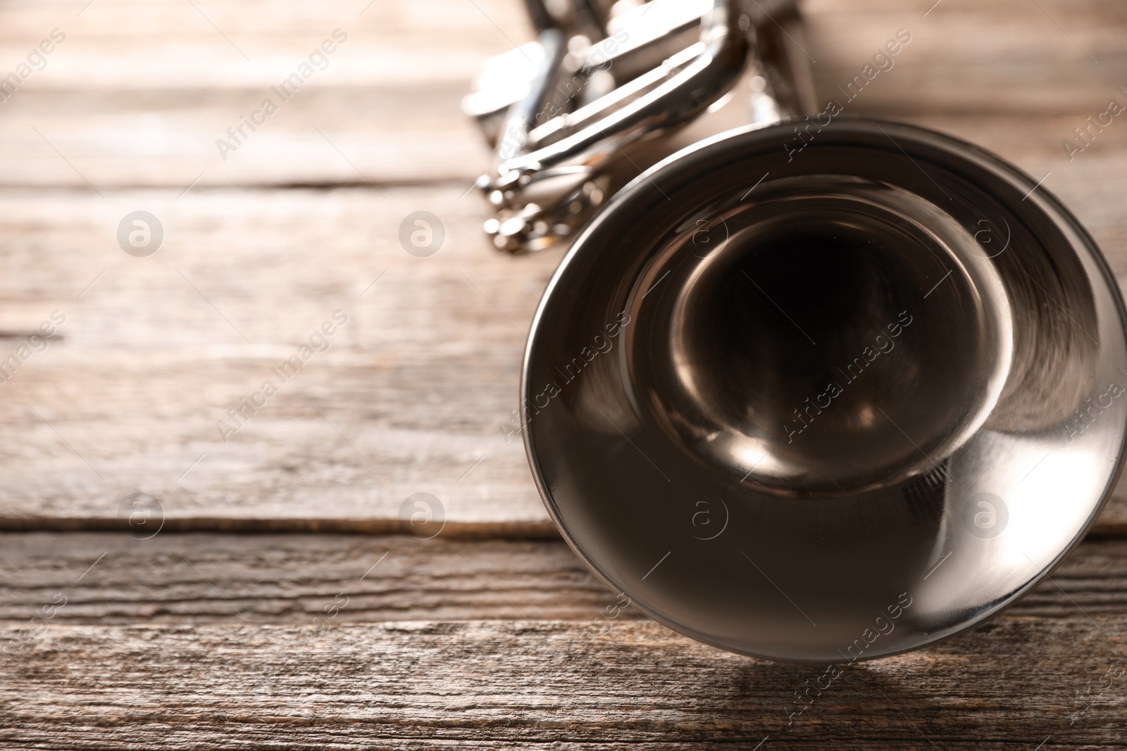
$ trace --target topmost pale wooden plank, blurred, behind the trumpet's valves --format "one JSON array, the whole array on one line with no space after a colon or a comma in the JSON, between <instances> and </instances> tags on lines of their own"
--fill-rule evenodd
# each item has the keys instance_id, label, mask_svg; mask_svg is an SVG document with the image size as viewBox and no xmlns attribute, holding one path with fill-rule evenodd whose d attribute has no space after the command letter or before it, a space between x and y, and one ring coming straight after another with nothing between
<instances>
[{"instance_id":1,"label":"topmost pale wooden plank, blurred, behind the trumpet's valves","mask_svg":"<svg viewBox=\"0 0 1127 751\"><path fill-rule=\"evenodd\" d=\"M12 66L52 28L68 35L0 104L0 185L468 181L488 160L459 101L488 56L532 38L513 0L374 3L363 15L361 0L195 5L97 0L80 17L61 1L0 8L0 60ZM820 97L841 98L837 87L907 28L912 42L849 111L997 114L1018 138L1036 127L1027 117L1067 113L1046 144L1063 155L1059 141L1085 117L1112 97L1127 102L1116 88L1127 86L1127 16L1112 0L1041 5L946 0L924 18L903 2L810 2L804 47ZM347 42L283 104L270 87L338 27ZM216 141L265 98L279 111L223 159Z\"/></svg>"}]
</instances>

